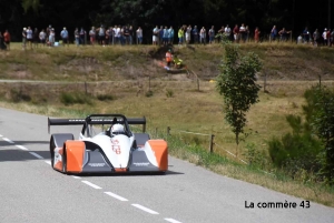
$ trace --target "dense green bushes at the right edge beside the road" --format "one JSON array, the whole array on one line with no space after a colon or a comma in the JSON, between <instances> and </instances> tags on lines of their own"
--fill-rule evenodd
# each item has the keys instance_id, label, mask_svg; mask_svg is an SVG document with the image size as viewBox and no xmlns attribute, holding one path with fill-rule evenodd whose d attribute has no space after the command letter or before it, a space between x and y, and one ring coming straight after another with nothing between
<instances>
[{"instance_id":1,"label":"dense green bushes at the right edge beside the road","mask_svg":"<svg viewBox=\"0 0 334 223\"><path fill-rule=\"evenodd\" d=\"M273 163L295 176L317 173L328 184L334 184L334 91L320 85L304 94L306 105L301 116L288 115L287 122L293 133L281 140L269 141L269 155Z\"/></svg>"}]
</instances>

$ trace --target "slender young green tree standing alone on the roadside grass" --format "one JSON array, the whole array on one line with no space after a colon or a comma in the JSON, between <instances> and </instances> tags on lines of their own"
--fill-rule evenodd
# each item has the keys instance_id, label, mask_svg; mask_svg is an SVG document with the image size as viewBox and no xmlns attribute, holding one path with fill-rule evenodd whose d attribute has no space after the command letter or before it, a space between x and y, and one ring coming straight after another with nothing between
<instances>
[{"instance_id":1,"label":"slender young green tree standing alone on the roadside grass","mask_svg":"<svg viewBox=\"0 0 334 223\"><path fill-rule=\"evenodd\" d=\"M236 144L244 133L246 112L258 102L261 87L256 83L256 72L262 63L254 52L242 57L238 47L230 42L223 43L225 55L217 77L216 89L224 97L225 120L235 133Z\"/></svg>"}]
</instances>

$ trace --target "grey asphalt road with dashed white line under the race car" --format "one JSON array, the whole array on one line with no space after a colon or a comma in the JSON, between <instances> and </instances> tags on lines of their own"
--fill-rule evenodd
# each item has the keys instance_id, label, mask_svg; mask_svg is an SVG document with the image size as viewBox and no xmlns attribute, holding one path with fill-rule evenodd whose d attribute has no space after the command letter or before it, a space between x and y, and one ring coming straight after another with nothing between
<instances>
[{"instance_id":1,"label":"grey asphalt road with dashed white line under the race car","mask_svg":"<svg viewBox=\"0 0 334 223\"><path fill-rule=\"evenodd\" d=\"M174 158L166 175L65 175L50 166L49 139L47 116L0 108L1 223L334 222L334 209L313 202L306 209L306 201L302 207L301 199ZM297 206L268 207L281 202Z\"/></svg>"}]
</instances>

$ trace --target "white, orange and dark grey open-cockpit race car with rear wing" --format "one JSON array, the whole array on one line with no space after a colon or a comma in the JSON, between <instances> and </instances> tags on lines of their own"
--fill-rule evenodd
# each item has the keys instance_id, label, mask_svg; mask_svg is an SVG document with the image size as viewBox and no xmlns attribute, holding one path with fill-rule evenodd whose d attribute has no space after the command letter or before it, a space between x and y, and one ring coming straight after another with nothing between
<instances>
[{"instance_id":1,"label":"white, orange and dark grey open-cockpit race car with rear wing","mask_svg":"<svg viewBox=\"0 0 334 223\"><path fill-rule=\"evenodd\" d=\"M165 140L151 140L145 133L146 119L122 114L90 114L86 119L50 119L50 125L81 125L79 139L72 133L50 138L51 166L62 173L131 173L168 170ZM141 124L143 133L130 125Z\"/></svg>"}]
</instances>

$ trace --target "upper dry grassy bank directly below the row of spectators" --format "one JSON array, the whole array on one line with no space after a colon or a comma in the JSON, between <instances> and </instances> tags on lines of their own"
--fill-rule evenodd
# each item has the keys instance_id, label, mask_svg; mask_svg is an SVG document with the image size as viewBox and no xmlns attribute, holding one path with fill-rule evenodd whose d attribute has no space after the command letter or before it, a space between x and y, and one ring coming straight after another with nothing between
<instances>
[{"instance_id":1,"label":"upper dry grassy bank directly below the row of spectators","mask_svg":"<svg viewBox=\"0 0 334 223\"><path fill-rule=\"evenodd\" d=\"M0 79L57 81L118 81L145 77L166 78L163 69L167 48L153 45L38 48L0 52ZM263 60L268 80L334 79L333 49L312 45L262 43L240 44L242 53L256 52ZM219 44L174 48L200 80L214 79L223 50ZM169 73L170 74L170 73ZM180 78L178 75L169 78Z\"/></svg>"}]
</instances>

